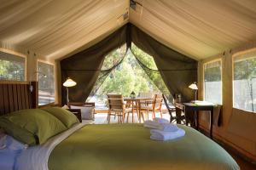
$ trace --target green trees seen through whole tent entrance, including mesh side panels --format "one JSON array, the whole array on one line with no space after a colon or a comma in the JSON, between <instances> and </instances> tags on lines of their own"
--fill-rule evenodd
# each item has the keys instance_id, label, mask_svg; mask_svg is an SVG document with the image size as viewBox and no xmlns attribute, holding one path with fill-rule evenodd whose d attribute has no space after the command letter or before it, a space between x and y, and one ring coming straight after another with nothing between
<instances>
[{"instance_id":1,"label":"green trees seen through whole tent entrance, including mesh side panels","mask_svg":"<svg viewBox=\"0 0 256 170\"><path fill-rule=\"evenodd\" d=\"M123 94L125 97L128 97L132 91L136 95L150 92L153 94L166 94L168 97L171 96L159 71L157 71L153 57L144 53L134 44L132 44L131 49L146 67L139 65L130 49L123 59L126 51L125 45L117 50L113 50L113 52L106 56L103 62L103 72L96 82L90 97L96 97L99 102L99 99L106 99L107 94ZM123 62L119 64L121 59L123 59ZM113 68L114 65L116 67L107 74L108 77L104 77L104 74L108 72L106 70ZM147 67L155 71L150 71Z\"/></svg>"}]
</instances>

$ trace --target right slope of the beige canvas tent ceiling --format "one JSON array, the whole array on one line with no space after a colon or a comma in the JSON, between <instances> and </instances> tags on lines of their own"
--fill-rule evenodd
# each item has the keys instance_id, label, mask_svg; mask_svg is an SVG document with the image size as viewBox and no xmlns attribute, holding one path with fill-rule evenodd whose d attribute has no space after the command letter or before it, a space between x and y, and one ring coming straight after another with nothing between
<instances>
[{"instance_id":1,"label":"right slope of the beige canvas tent ceiling","mask_svg":"<svg viewBox=\"0 0 256 170\"><path fill-rule=\"evenodd\" d=\"M205 59L256 38L253 0L137 0L130 21L152 37L196 59Z\"/></svg>"}]
</instances>

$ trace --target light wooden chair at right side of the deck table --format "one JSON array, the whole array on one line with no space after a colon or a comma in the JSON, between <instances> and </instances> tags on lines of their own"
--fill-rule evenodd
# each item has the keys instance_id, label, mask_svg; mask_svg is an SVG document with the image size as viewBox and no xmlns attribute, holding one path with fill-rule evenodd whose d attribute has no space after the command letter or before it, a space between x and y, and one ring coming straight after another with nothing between
<instances>
[{"instance_id":1,"label":"light wooden chair at right side of the deck table","mask_svg":"<svg viewBox=\"0 0 256 170\"><path fill-rule=\"evenodd\" d=\"M154 118L155 112L160 112L160 116L162 117L162 101L163 101L162 94L154 94L154 99L151 104L150 102L148 102L148 100L145 101L145 103L141 101L139 105L140 113L143 116L143 113L146 113L148 115L149 111L151 111L153 114L152 116ZM144 116L143 116L143 119L144 119Z\"/></svg>"}]
</instances>

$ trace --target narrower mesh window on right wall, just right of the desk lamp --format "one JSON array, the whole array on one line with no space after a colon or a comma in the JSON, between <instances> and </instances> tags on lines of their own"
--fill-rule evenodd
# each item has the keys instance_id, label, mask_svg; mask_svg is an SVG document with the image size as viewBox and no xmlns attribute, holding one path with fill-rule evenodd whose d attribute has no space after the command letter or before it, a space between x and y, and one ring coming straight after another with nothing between
<instances>
[{"instance_id":1,"label":"narrower mesh window on right wall, just right of the desk lamp","mask_svg":"<svg viewBox=\"0 0 256 170\"><path fill-rule=\"evenodd\" d=\"M204 65L204 99L222 105L221 60Z\"/></svg>"}]
</instances>

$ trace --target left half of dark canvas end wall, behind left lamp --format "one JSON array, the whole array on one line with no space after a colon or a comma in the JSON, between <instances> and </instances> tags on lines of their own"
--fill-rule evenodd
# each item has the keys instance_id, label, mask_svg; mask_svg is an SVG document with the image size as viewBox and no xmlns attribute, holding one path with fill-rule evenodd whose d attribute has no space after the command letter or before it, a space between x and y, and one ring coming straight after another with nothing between
<instances>
[{"instance_id":1,"label":"left half of dark canvas end wall, behind left lamp","mask_svg":"<svg viewBox=\"0 0 256 170\"><path fill-rule=\"evenodd\" d=\"M77 85L68 88L70 101L85 101L101 73L105 56L126 42L126 26L84 51L61 60L61 82L71 77ZM62 86L62 104L65 104L66 88Z\"/></svg>"}]
</instances>

